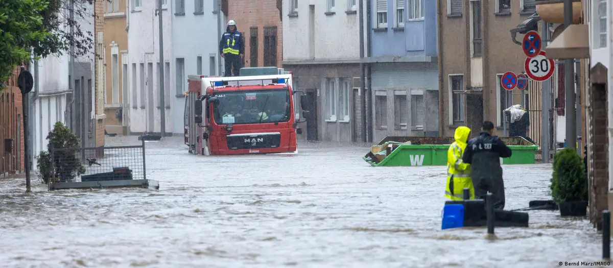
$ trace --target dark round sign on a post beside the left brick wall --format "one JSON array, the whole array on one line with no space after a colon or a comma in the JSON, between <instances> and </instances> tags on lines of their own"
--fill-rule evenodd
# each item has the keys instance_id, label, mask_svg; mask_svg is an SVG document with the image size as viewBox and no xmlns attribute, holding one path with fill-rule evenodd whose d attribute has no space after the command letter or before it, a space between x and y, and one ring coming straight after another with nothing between
<instances>
[{"instance_id":1,"label":"dark round sign on a post beside the left brick wall","mask_svg":"<svg viewBox=\"0 0 613 268\"><path fill-rule=\"evenodd\" d=\"M28 128L28 93L32 91L32 87L34 87L34 79L32 78L32 73L26 70L26 67L21 66L21 72L17 77L17 86L21 90L21 108L23 113L23 159L24 159L24 168L26 169L26 193L31 192L31 183L30 183L30 163L29 163L29 128Z\"/></svg>"}]
</instances>

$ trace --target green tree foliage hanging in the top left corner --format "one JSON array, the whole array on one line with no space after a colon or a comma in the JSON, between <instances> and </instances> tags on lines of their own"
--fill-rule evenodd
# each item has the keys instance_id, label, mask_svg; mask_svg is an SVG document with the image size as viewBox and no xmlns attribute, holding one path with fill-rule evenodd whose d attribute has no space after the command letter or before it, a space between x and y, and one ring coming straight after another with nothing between
<instances>
[{"instance_id":1,"label":"green tree foliage hanging in the top left corner","mask_svg":"<svg viewBox=\"0 0 613 268\"><path fill-rule=\"evenodd\" d=\"M91 32L83 33L77 21L93 17L86 4L93 0L1 0L0 81L7 81L15 66L48 55L61 55L74 44L74 56L93 47ZM73 18L69 11L73 10ZM72 26L72 31L69 30ZM0 90L4 83L0 84Z\"/></svg>"}]
</instances>

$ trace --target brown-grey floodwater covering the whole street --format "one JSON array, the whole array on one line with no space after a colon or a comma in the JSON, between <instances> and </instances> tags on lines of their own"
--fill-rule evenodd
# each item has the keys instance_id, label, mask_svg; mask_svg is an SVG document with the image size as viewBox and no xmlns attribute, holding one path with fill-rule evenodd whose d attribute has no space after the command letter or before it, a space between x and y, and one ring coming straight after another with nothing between
<instances>
[{"instance_id":1,"label":"brown-grey floodwater covering the whole street","mask_svg":"<svg viewBox=\"0 0 613 268\"><path fill-rule=\"evenodd\" d=\"M138 145L135 136L107 146ZM369 147L188 155L147 143L143 189L23 194L0 181L2 267L560 267L598 261L588 220L531 211L530 228L441 231L444 166L379 167ZM506 209L550 199L550 165L503 165Z\"/></svg>"}]
</instances>

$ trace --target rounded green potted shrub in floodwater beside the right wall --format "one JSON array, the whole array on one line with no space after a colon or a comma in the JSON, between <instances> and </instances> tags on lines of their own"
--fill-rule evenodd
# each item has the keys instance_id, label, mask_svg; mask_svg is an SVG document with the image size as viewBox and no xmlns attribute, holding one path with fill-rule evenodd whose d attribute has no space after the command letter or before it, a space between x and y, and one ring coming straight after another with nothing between
<instances>
[{"instance_id":1,"label":"rounded green potted shrub in floodwater beside the right wall","mask_svg":"<svg viewBox=\"0 0 613 268\"><path fill-rule=\"evenodd\" d=\"M551 195L558 203L562 216L587 214L587 174L581 156L574 149L565 148L554 155L554 174Z\"/></svg>"}]
</instances>

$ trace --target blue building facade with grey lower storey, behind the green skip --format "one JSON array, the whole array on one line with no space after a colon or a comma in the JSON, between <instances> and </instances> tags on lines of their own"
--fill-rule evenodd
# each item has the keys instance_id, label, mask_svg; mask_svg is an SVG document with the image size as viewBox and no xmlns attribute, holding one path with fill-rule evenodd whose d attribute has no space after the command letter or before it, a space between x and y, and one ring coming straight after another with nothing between
<instances>
[{"instance_id":1,"label":"blue building facade with grey lower storey, behind the green skip","mask_svg":"<svg viewBox=\"0 0 613 268\"><path fill-rule=\"evenodd\" d=\"M438 136L436 1L369 4L373 140Z\"/></svg>"}]
</instances>

